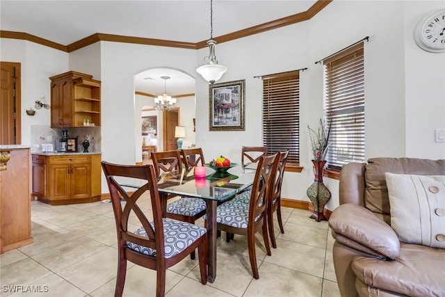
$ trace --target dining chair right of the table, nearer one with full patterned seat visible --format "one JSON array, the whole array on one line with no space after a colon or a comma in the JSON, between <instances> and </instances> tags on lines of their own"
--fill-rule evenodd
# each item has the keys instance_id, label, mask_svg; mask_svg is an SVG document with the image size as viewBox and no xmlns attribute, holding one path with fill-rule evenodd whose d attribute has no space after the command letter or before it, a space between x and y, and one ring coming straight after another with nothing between
<instances>
[{"instance_id":1,"label":"dining chair right of the table, nearer one with full patterned seat visible","mask_svg":"<svg viewBox=\"0 0 445 297\"><path fill-rule=\"evenodd\" d=\"M269 177L276 171L277 154L261 156L255 171L254 182L249 204L234 202L233 200L224 202L217 207L216 225L218 230L229 234L240 234L248 236L248 250L250 266L255 279L259 278L256 252L255 233L259 230L263 232L264 246L267 255L271 255L267 232L267 188Z\"/></svg>"}]
</instances>

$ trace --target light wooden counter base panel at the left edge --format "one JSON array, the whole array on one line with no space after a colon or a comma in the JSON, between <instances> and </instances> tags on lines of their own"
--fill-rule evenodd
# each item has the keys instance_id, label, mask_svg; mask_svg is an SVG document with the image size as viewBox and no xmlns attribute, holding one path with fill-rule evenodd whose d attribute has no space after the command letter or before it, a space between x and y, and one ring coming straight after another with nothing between
<instances>
[{"instance_id":1,"label":"light wooden counter base panel at the left edge","mask_svg":"<svg viewBox=\"0 0 445 297\"><path fill-rule=\"evenodd\" d=\"M10 159L0 170L0 254L33 243L29 148L6 151Z\"/></svg>"}]
</instances>

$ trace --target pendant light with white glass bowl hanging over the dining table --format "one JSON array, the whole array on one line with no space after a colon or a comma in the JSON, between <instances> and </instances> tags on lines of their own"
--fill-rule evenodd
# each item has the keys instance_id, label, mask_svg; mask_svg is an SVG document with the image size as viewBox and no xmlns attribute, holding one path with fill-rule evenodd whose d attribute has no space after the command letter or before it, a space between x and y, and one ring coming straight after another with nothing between
<instances>
[{"instance_id":1,"label":"pendant light with white glass bowl hanging over the dining table","mask_svg":"<svg viewBox=\"0 0 445 297\"><path fill-rule=\"evenodd\" d=\"M210 0L210 39L207 40L207 46L210 49L209 56L204 58L205 65L196 68L196 72L201 74L202 78L213 84L218 81L227 71L227 67L218 65L215 56L216 40L213 40L213 1Z\"/></svg>"}]
</instances>

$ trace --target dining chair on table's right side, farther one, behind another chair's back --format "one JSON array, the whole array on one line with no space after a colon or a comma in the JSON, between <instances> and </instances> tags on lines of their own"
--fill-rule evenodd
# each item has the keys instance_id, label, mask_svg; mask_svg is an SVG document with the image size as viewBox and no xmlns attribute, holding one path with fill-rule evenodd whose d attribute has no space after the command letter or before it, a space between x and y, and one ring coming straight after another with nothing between
<instances>
[{"instance_id":1,"label":"dining chair on table's right side, farther one, behind another chair's back","mask_svg":"<svg viewBox=\"0 0 445 297\"><path fill-rule=\"evenodd\" d=\"M275 240L275 230L273 227L273 213L277 213L278 225L280 231L284 233L283 221L281 218L281 189L283 183L284 169L286 168L287 156L289 156L289 150L280 152L280 158L277 166L277 170L273 175L273 180L270 181L270 187L268 188L268 204L267 204L267 225L269 230L270 243L273 248L277 248L277 241ZM272 178L272 177L271 177Z\"/></svg>"}]
</instances>

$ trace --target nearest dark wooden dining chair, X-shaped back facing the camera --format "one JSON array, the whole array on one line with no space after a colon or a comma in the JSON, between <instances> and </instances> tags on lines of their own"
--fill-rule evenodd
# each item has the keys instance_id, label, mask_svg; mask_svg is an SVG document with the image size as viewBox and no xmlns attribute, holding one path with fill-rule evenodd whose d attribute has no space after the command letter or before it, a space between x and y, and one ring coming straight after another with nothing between
<instances>
[{"instance_id":1,"label":"nearest dark wooden dining chair, X-shaped back facing the camera","mask_svg":"<svg viewBox=\"0 0 445 297\"><path fill-rule=\"evenodd\" d=\"M201 283L207 283L207 230L191 223L163 218L161 200L152 165L124 166L102 161L102 169L111 195L118 233L118 276L115 296L122 296L127 261L156 270L156 296L165 295L166 269L177 264L197 248ZM118 182L122 178L142 179L140 186L129 193ZM132 189L134 190L134 188ZM140 209L140 197L149 192L153 221ZM122 204L120 198L125 200ZM129 230L129 217L136 215L141 227ZM174 235L173 235L174 234Z\"/></svg>"}]
</instances>

